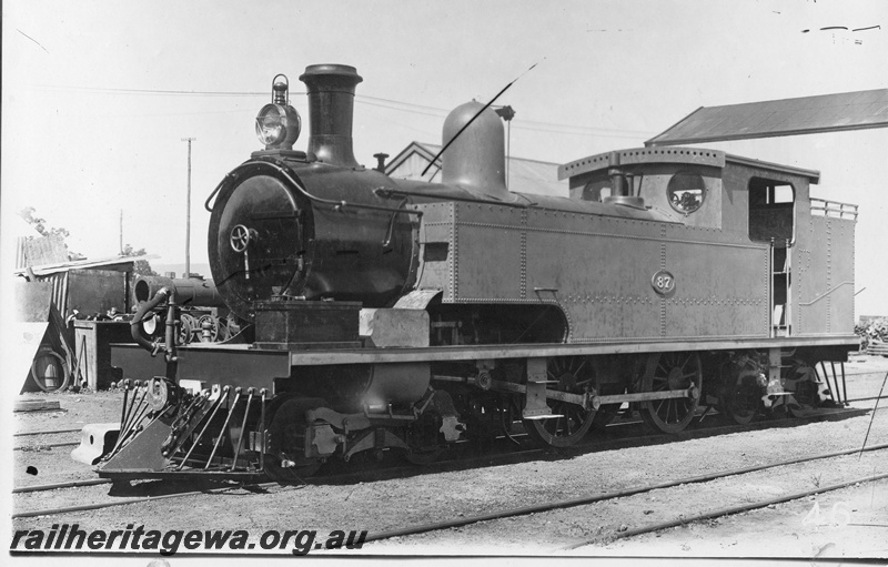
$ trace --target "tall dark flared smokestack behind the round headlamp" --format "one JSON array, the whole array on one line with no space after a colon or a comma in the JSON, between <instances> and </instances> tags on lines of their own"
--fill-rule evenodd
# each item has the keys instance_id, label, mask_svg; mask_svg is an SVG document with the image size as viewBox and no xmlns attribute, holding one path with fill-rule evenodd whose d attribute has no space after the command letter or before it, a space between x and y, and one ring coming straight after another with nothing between
<instances>
[{"instance_id":1,"label":"tall dark flared smokestack behind the round headlamp","mask_svg":"<svg viewBox=\"0 0 888 567\"><path fill-rule=\"evenodd\" d=\"M357 168L352 149L354 88L363 81L353 67L309 65L299 78L309 90L309 154L344 168Z\"/></svg>"}]
</instances>

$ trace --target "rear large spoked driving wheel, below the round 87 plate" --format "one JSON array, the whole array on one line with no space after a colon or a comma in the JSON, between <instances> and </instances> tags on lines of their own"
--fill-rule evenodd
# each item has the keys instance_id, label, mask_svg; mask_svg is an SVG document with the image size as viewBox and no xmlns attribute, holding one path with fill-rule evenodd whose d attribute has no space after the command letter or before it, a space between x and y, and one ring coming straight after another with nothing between
<instances>
[{"instance_id":1,"label":"rear large spoked driving wheel, below the round 87 plate","mask_svg":"<svg viewBox=\"0 0 888 567\"><path fill-rule=\"evenodd\" d=\"M688 389L692 386L696 388L692 396L650 399L639 404L642 417L653 428L663 433L678 433L687 427L699 405L703 383L700 357L697 353L663 353L652 356L642 379L642 392L668 392Z\"/></svg>"}]
</instances>

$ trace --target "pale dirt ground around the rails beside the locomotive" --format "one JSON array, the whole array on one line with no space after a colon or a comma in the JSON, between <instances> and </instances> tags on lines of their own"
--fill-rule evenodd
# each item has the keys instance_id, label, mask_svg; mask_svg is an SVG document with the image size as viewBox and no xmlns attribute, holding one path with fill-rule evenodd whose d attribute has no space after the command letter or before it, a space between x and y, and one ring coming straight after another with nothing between
<instances>
[{"instance_id":1,"label":"pale dirt ground around the rails beside the locomotive","mask_svg":"<svg viewBox=\"0 0 888 567\"><path fill-rule=\"evenodd\" d=\"M855 357L846 364L848 396L876 396L888 358ZM850 375L854 374L854 375ZM41 395L22 396L40 398ZM16 432L81 427L119 418L120 393L42 395L64 412L16 414ZM881 401L881 405L888 405ZM872 408L875 402L854 404ZM868 432L868 433L867 433ZM51 517L21 518L13 529L79 524L82 529L246 529L251 541L268 529L334 529L377 533L420 523L470 517L518 505L542 504L689 476L786 460L793 457L888 443L888 409L840 419L727 434L571 458L534 460L406 478L304 487L233 488L223 494L179 496ZM13 485L94 478L70 459L73 433L16 437ZM30 468L29 468L30 467ZM365 555L562 555L592 557L888 557L888 479L777 504L744 514L689 523L654 534L618 538L654 523L757 502L888 472L888 453L871 452L750 473L706 484L680 485L606 503L473 524L462 528L366 544ZM36 473L36 474L34 474ZM158 482L139 488L158 492ZM170 483L161 492L175 490ZM16 495L13 510L47 509L109 498L108 485ZM569 549L568 549L569 548ZM289 549L279 550L287 554ZM353 551L359 553L359 551ZM291 556L292 557L292 556Z\"/></svg>"}]
</instances>

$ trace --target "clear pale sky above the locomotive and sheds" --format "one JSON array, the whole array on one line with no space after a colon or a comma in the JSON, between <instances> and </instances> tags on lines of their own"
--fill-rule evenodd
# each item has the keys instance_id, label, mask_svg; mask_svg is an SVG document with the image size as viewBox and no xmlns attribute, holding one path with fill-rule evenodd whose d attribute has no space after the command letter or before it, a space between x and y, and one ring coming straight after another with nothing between
<instances>
[{"instance_id":1,"label":"clear pale sky above the locomotive and sheds","mask_svg":"<svg viewBox=\"0 0 888 567\"><path fill-rule=\"evenodd\" d=\"M538 63L500 101L517 112L512 153L567 162L642 145L702 105L886 88L887 16L881 0L7 0L2 215L33 206L100 257L118 252L122 210L124 242L183 262L193 136L191 255L205 262L203 201L260 148L253 119L276 73L305 118L305 65L356 67L355 154L372 165L438 142L450 109ZM848 29L820 30L835 26ZM821 169L816 196L859 203L857 287L885 290L888 136L824 143L864 159L824 165L794 139L741 153ZM886 295L861 294L858 313L888 314Z\"/></svg>"}]
</instances>

